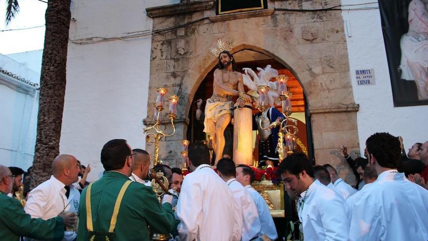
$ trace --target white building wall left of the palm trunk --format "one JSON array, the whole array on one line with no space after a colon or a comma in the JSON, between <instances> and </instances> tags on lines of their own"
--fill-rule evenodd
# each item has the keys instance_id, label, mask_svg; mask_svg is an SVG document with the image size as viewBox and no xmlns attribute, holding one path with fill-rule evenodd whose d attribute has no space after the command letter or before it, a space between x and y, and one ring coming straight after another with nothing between
<instances>
[{"instance_id":1,"label":"white building wall left of the palm trunk","mask_svg":"<svg viewBox=\"0 0 428 241\"><path fill-rule=\"evenodd\" d=\"M25 63L0 55L0 67L38 83L40 72ZM35 87L0 73L0 165L26 170L33 164L38 93Z\"/></svg>"}]
</instances>

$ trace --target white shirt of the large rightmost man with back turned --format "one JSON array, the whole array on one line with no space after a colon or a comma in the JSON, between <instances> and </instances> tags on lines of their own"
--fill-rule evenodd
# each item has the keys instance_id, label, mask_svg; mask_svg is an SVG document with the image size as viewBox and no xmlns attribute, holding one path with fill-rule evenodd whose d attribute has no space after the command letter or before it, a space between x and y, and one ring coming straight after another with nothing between
<instances>
[{"instance_id":1,"label":"white shirt of the large rightmost man with back turned","mask_svg":"<svg viewBox=\"0 0 428 241\"><path fill-rule=\"evenodd\" d=\"M428 240L428 191L387 170L351 200L350 241Z\"/></svg>"}]
</instances>

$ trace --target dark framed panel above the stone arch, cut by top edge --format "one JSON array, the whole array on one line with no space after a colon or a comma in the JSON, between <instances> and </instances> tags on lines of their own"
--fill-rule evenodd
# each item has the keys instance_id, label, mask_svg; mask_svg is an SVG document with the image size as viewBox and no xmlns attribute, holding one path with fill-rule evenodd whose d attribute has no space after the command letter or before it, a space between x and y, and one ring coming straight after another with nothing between
<instances>
[{"instance_id":1,"label":"dark framed panel above the stone arch, cut by top edge","mask_svg":"<svg viewBox=\"0 0 428 241\"><path fill-rule=\"evenodd\" d=\"M237 13L267 8L267 0L218 0L217 14Z\"/></svg>"}]
</instances>

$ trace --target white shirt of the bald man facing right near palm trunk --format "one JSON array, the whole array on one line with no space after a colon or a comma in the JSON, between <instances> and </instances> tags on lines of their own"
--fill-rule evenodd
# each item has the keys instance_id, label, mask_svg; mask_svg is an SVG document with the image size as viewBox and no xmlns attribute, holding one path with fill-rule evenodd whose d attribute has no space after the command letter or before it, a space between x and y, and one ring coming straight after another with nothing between
<instances>
[{"instance_id":1,"label":"white shirt of the bald man facing right near palm trunk","mask_svg":"<svg viewBox=\"0 0 428 241\"><path fill-rule=\"evenodd\" d=\"M70 185L70 195L67 199L65 185L51 176L51 179L34 188L27 198L24 211L32 218L48 220L58 216L61 212L75 212L79 209L80 192ZM63 241L76 238L73 231L65 231ZM26 239L31 240L31 239Z\"/></svg>"}]
</instances>

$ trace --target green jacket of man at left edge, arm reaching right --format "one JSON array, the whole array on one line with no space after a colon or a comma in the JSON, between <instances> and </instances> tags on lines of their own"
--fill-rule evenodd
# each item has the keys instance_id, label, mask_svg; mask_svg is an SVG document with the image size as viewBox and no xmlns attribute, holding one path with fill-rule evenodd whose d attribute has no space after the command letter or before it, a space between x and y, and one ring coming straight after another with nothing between
<instances>
[{"instance_id":1,"label":"green jacket of man at left edge, arm reaching right","mask_svg":"<svg viewBox=\"0 0 428 241\"><path fill-rule=\"evenodd\" d=\"M0 191L0 240L18 241L19 236L59 241L64 237L64 221L61 217L32 219L18 200Z\"/></svg>"}]
</instances>

